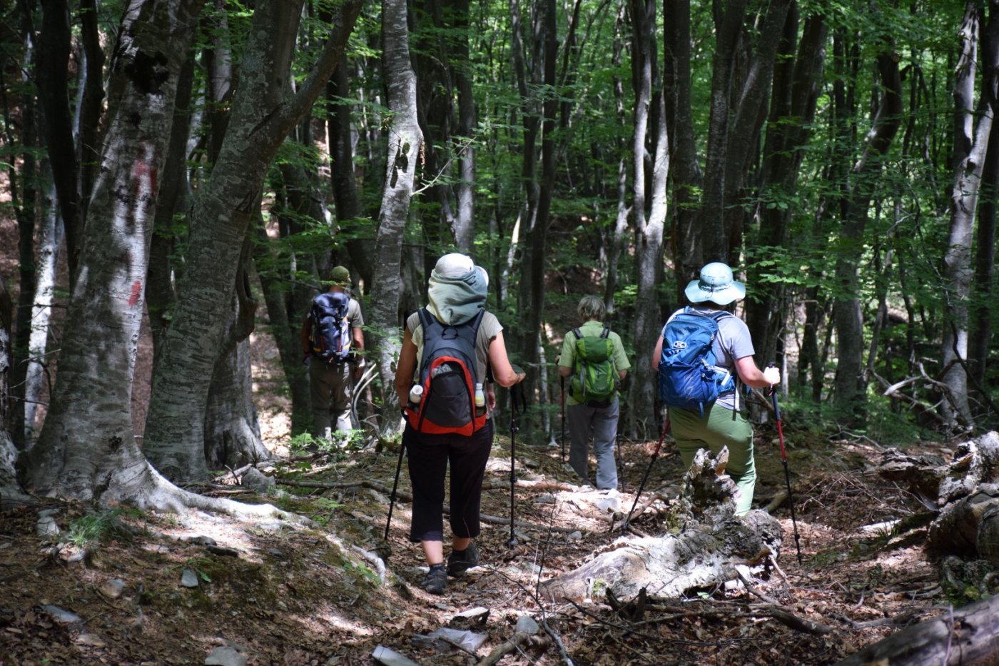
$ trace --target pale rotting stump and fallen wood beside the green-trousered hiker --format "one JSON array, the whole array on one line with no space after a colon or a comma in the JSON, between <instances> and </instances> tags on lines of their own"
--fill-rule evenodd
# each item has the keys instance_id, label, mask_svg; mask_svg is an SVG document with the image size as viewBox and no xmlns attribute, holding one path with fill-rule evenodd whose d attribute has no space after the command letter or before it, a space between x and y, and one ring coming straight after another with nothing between
<instances>
[{"instance_id":1,"label":"pale rotting stump and fallen wood beside the green-trousered hiker","mask_svg":"<svg viewBox=\"0 0 999 666\"><path fill-rule=\"evenodd\" d=\"M765 511L736 518L735 484L723 473L728 453L704 450L684 476L677 505L682 525L675 535L622 536L574 571L542 584L552 601L582 601L607 590L626 599L647 588L656 596L679 596L737 578L735 567L756 566L780 548L783 530Z\"/></svg>"}]
</instances>

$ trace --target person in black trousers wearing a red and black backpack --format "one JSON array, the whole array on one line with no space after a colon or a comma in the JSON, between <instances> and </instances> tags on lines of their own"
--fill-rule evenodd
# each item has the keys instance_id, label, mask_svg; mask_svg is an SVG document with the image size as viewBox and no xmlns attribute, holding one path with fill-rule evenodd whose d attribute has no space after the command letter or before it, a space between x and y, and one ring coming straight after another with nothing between
<instances>
[{"instance_id":1,"label":"person in black trousers wearing a red and black backpack","mask_svg":"<svg viewBox=\"0 0 999 666\"><path fill-rule=\"evenodd\" d=\"M487 367L500 386L523 381L506 357L502 326L486 310L489 275L464 254L446 254L431 272L426 308L406 320L396 369L396 391L405 406L413 522L430 566L420 584L442 594L448 576L479 563L472 540L479 536L479 507L486 463L493 448L490 418L496 394ZM446 335L447 334L447 335ZM466 368L465 358L474 367ZM468 376L466 375L468 370ZM444 564L445 475L451 467L452 550Z\"/></svg>"}]
</instances>

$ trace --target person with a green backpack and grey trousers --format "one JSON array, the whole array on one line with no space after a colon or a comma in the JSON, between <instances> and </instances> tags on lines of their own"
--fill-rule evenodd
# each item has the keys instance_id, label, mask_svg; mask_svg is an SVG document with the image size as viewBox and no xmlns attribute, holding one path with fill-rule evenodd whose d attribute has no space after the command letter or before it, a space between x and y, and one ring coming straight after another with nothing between
<instances>
[{"instance_id":1,"label":"person with a green backpack and grey trousers","mask_svg":"<svg viewBox=\"0 0 999 666\"><path fill-rule=\"evenodd\" d=\"M624 381L628 368L620 336L602 323L606 314L603 301L583 296L576 307L582 325L565 334L556 360L558 373L571 376L565 396L568 421L568 463L589 481L589 439L596 456L596 487L617 487L614 438L617 435L617 383Z\"/></svg>"}]
</instances>

